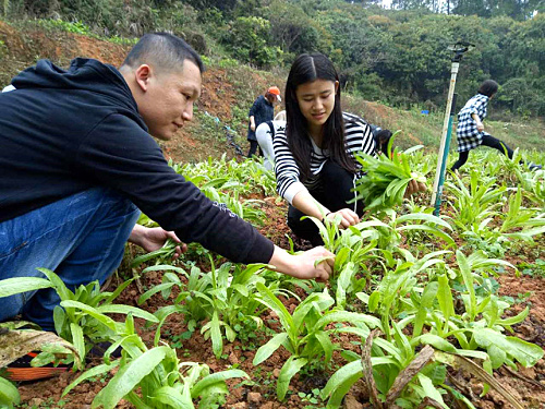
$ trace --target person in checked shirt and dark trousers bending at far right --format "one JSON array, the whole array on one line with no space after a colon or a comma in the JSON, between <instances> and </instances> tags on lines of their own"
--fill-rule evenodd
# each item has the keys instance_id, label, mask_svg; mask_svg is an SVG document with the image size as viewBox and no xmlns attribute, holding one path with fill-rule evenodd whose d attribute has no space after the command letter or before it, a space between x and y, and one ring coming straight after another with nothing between
<instances>
[{"instance_id":1,"label":"person in checked shirt and dark trousers bending at far right","mask_svg":"<svg viewBox=\"0 0 545 409\"><path fill-rule=\"evenodd\" d=\"M459 158L452 165L451 170L458 171L467 161L470 151L484 145L493 147L512 159L513 151L504 142L484 131L483 121L486 117L488 103L498 92L498 83L486 80L481 84L479 93L471 97L458 113L458 127L456 137L458 140ZM524 164L521 161L521 165ZM531 170L541 169L541 165L530 164Z\"/></svg>"}]
</instances>

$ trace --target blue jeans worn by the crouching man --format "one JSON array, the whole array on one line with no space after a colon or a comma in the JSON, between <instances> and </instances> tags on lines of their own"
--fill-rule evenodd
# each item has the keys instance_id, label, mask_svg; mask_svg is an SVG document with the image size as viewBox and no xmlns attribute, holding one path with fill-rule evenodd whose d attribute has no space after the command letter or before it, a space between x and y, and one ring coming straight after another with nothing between
<instances>
[{"instance_id":1,"label":"blue jeans worn by the crouching man","mask_svg":"<svg viewBox=\"0 0 545 409\"><path fill-rule=\"evenodd\" d=\"M121 194L89 189L0 222L0 279L44 277L53 270L71 290L94 280L104 284L123 257L124 244L140 215ZM45 330L55 330L51 289L0 298L0 322L22 314Z\"/></svg>"}]
</instances>

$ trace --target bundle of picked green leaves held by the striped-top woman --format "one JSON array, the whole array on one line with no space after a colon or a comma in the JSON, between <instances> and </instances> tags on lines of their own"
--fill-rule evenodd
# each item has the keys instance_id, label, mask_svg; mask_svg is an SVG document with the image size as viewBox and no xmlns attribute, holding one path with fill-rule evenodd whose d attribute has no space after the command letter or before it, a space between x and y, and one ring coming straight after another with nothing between
<instances>
[{"instance_id":1,"label":"bundle of picked green leaves held by the striped-top woman","mask_svg":"<svg viewBox=\"0 0 545 409\"><path fill-rule=\"evenodd\" d=\"M388 143L387 152L391 152L393 136ZM391 158L388 155L374 157L361 154L356 156L358 161L362 165L362 172L365 173L356 182L356 200L364 200L366 210L380 212L401 204L412 179L426 184L425 176L411 171L409 165L409 154L422 147L422 145L417 145L404 152L398 152L396 147L391 153Z\"/></svg>"}]
</instances>

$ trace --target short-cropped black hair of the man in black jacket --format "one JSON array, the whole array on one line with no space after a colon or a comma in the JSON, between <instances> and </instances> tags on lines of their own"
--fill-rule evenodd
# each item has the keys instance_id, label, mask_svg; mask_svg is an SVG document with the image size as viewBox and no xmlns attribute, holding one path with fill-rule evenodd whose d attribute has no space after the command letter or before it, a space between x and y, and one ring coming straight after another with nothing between
<instances>
[{"instance_id":1,"label":"short-cropped black hair of the man in black jacket","mask_svg":"<svg viewBox=\"0 0 545 409\"><path fill-rule=\"evenodd\" d=\"M180 70L185 60L194 62L201 73L205 71L198 53L183 39L169 33L148 33L136 43L121 67L150 64L156 70L171 72Z\"/></svg>"}]
</instances>

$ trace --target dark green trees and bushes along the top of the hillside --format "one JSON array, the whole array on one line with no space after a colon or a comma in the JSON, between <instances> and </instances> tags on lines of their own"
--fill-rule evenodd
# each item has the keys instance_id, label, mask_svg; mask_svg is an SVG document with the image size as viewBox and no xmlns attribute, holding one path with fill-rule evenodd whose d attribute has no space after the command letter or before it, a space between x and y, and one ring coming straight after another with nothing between
<instances>
[{"instance_id":1,"label":"dark green trees and bushes along the top of the hillside","mask_svg":"<svg viewBox=\"0 0 545 409\"><path fill-rule=\"evenodd\" d=\"M102 36L170 31L202 55L235 58L265 69L287 68L301 52L320 51L334 60L344 89L393 106L439 111L450 77L452 56L447 46L467 40L475 48L460 64L458 108L482 81L494 79L500 88L491 103L491 117L545 113L543 1L393 0L395 10L376 3L9 0L2 11L9 19L60 17Z\"/></svg>"}]
</instances>

